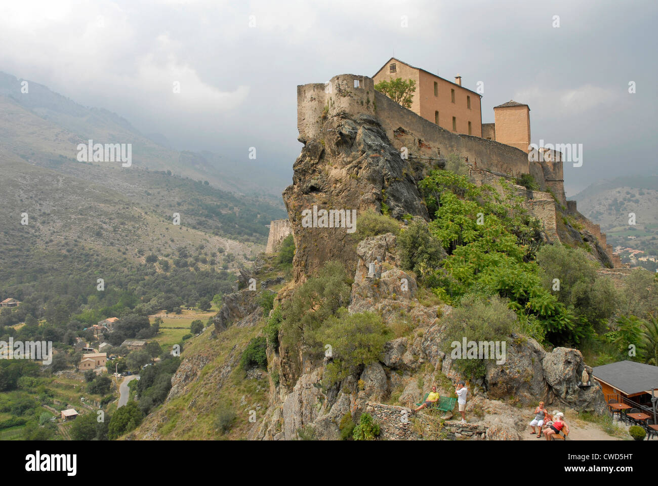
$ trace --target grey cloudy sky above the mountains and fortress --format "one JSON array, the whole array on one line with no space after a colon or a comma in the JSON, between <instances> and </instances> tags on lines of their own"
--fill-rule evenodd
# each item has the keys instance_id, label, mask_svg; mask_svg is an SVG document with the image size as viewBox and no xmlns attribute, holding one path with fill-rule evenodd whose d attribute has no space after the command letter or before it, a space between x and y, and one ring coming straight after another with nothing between
<instances>
[{"instance_id":1,"label":"grey cloudy sky above the mountains and fortress","mask_svg":"<svg viewBox=\"0 0 658 486\"><path fill-rule=\"evenodd\" d=\"M178 149L291 175L296 86L395 57L530 105L532 142L583 144L568 194L655 169L655 1L21 0L0 3L0 70L105 107ZM559 15L560 27L553 28ZM255 16L255 27L249 27ZM401 26L407 16L408 27ZM172 93L180 82L180 94ZM628 82L636 82L636 94Z\"/></svg>"}]
</instances>

